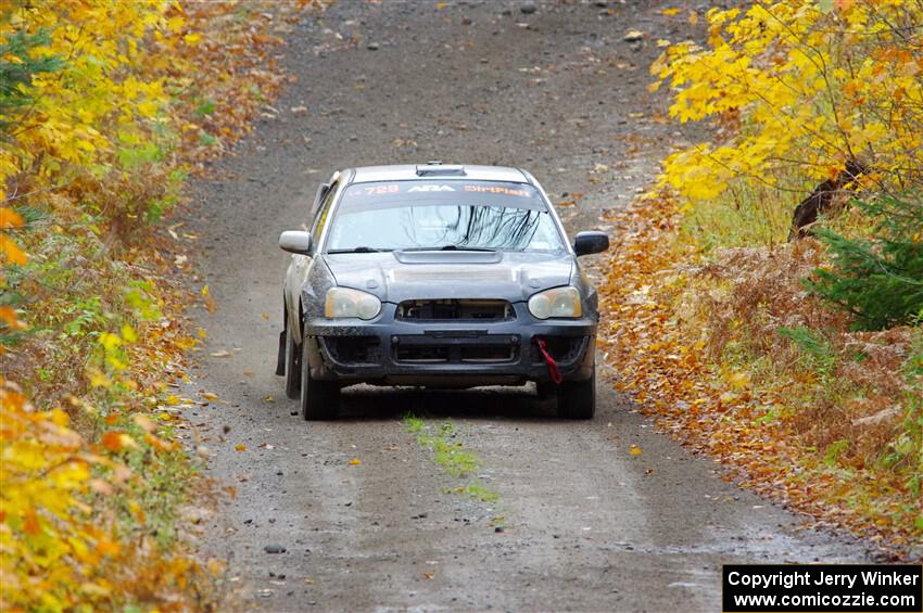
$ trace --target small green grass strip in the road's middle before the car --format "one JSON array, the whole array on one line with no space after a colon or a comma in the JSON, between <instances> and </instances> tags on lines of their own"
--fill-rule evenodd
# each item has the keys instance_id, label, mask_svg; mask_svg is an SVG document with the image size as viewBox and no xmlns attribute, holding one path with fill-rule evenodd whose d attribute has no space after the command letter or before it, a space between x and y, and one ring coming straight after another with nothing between
<instances>
[{"instance_id":1,"label":"small green grass strip in the road's middle before the car","mask_svg":"<svg viewBox=\"0 0 923 613\"><path fill-rule=\"evenodd\" d=\"M463 448L464 443L458 430L450 420L443 422L439 430L413 414L405 416L402 421L407 432L416 435L419 446L432 452L433 462L450 475L456 478L467 477L481 467L480 458ZM500 494L485 487L477 478L450 491L467 494L480 502L493 503L500 500Z\"/></svg>"}]
</instances>

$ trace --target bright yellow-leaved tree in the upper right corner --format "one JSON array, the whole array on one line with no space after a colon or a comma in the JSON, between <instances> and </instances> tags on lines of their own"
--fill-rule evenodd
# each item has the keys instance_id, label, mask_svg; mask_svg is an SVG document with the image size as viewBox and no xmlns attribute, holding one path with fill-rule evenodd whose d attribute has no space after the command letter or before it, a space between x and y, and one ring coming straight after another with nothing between
<instances>
[{"instance_id":1,"label":"bright yellow-leaved tree in the upper right corner","mask_svg":"<svg viewBox=\"0 0 923 613\"><path fill-rule=\"evenodd\" d=\"M672 117L721 129L669 156L663 184L693 206L730 184L771 186L793 204L823 181L920 186L923 2L757 1L707 18L707 44L668 47L652 88L669 82Z\"/></svg>"}]
</instances>

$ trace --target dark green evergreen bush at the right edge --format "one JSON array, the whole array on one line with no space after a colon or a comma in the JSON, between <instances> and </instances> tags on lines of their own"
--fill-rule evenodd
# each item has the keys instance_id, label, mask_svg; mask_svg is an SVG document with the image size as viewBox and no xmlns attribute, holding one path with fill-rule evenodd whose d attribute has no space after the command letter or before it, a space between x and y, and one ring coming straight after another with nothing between
<instances>
[{"instance_id":1,"label":"dark green evergreen bush at the right edge","mask_svg":"<svg viewBox=\"0 0 923 613\"><path fill-rule=\"evenodd\" d=\"M856 328L883 330L923 314L923 204L883 196L856 202L873 221L873 239L817 230L832 254L808 289L856 316Z\"/></svg>"}]
</instances>

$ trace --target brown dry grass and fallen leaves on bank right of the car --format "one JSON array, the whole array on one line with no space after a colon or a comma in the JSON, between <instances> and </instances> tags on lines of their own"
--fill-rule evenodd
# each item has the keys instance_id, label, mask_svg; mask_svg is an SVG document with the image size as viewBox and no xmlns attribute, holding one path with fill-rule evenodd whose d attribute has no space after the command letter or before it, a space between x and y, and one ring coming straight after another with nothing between
<instances>
[{"instance_id":1,"label":"brown dry grass and fallen leaves on bank right of the car","mask_svg":"<svg viewBox=\"0 0 923 613\"><path fill-rule=\"evenodd\" d=\"M682 222L669 197L612 219L600 344L619 388L742 486L920 555L923 332L851 331L802 284L815 241L704 256Z\"/></svg>"}]
</instances>

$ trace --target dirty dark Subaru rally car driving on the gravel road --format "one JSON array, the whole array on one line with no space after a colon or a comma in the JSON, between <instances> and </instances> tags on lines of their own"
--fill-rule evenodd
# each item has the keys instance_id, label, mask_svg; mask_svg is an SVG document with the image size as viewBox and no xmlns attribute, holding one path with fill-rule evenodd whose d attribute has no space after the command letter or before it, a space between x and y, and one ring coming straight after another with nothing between
<instances>
[{"instance_id":1,"label":"dirty dark Subaru rally car driving on the gravel road","mask_svg":"<svg viewBox=\"0 0 923 613\"><path fill-rule=\"evenodd\" d=\"M357 383L535 382L558 414L595 411L596 291L541 186L518 168L441 163L336 173L292 254L276 373L306 420Z\"/></svg>"}]
</instances>

